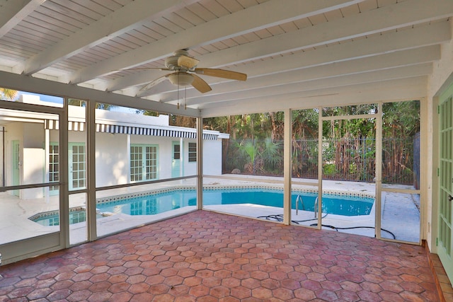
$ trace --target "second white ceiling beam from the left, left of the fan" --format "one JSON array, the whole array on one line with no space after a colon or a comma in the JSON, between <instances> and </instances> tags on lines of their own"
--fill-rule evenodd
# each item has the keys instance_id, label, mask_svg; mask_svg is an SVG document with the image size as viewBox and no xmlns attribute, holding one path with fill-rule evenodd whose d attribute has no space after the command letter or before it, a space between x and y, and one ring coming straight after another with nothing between
<instances>
[{"instance_id":1,"label":"second white ceiling beam from the left, left of the fan","mask_svg":"<svg viewBox=\"0 0 453 302\"><path fill-rule=\"evenodd\" d=\"M36 54L28 59L23 66L23 74L34 74L56 62L72 57L93 46L99 45L112 37L127 33L138 25L142 25L152 18L164 16L189 5L196 0L136 0L113 11L108 16L91 23L61 40L57 45Z\"/></svg>"}]
</instances>

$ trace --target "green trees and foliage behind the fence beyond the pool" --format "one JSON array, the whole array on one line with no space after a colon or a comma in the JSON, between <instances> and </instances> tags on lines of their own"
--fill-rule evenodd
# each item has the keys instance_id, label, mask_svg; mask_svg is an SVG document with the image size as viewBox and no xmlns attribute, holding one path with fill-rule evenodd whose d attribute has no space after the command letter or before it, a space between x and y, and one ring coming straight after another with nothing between
<instances>
[{"instance_id":1,"label":"green trees and foliage behind the fence beyond the pool","mask_svg":"<svg viewBox=\"0 0 453 302\"><path fill-rule=\"evenodd\" d=\"M420 102L384 103L382 106L383 179L386 182L410 183L413 163L413 137L420 129ZM322 108L323 117L366 115L378 112L376 104ZM295 177L317 178L319 110L294 110L292 115L292 168ZM265 112L205 119L205 129L230 134L224 141L224 155L237 156L232 148L245 154L249 173L261 170L265 161L274 161L274 146L284 137L284 113ZM324 177L331 179L368 180L374 178L376 126L374 118L323 122ZM237 144L231 142L239 141ZM268 144L272 143L272 144ZM276 148L278 149L278 148ZM269 159L271 158L271 159ZM233 158L223 159L224 166ZM236 158L234 158L236 162ZM239 163L239 161L238 161ZM275 161L277 163L277 161ZM277 163L280 164L280 163ZM273 165L274 166L274 165ZM236 167L243 168L243 167ZM250 170L250 169L249 169Z\"/></svg>"}]
</instances>

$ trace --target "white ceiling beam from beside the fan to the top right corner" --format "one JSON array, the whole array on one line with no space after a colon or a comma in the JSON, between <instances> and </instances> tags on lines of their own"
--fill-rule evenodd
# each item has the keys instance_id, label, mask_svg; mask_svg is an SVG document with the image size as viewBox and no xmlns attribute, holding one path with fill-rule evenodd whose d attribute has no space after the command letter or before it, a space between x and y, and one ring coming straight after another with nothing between
<instances>
[{"instance_id":1,"label":"white ceiling beam from beside the fan to the top right corner","mask_svg":"<svg viewBox=\"0 0 453 302\"><path fill-rule=\"evenodd\" d=\"M452 0L407 0L348 16L348 18L339 18L309 28L230 47L222 50L222 55L217 52L205 54L202 62L210 67L247 62L252 59L365 37L407 25L448 18L452 15Z\"/></svg>"}]
</instances>

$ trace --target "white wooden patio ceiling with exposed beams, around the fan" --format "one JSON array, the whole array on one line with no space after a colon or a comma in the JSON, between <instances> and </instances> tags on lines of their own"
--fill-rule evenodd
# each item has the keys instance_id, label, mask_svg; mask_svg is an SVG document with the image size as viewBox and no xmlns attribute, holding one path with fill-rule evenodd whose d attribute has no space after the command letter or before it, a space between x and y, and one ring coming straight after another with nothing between
<instances>
[{"instance_id":1,"label":"white wooden patio ceiling with exposed beams, around the fan","mask_svg":"<svg viewBox=\"0 0 453 302\"><path fill-rule=\"evenodd\" d=\"M452 16L452 0L0 0L0 83L197 117L418 99ZM248 79L141 91L181 49Z\"/></svg>"}]
</instances>

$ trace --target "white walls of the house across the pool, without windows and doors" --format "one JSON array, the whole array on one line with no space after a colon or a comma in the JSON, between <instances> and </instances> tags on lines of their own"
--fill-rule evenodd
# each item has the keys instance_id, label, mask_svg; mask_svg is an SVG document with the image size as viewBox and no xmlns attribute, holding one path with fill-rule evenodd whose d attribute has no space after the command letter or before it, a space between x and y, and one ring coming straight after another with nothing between
<instances>
[{"instance_id":1,"label":"white walls of the house across the pool, without windows and doors","mask_svg":"<svg viewBox=\"0 0 453 302\"><path fill-rule=\"evenodd\" d=\"M24 95L25 96L25 95ZM28 100L28 98L23 98ZM37 103L35 100L34 103ZM39 103L39 102L38 102ZM42 117L44 120L46 117ZM127 125L132 127L147 127L152 124L160 129L191 131L183 127L168 126L168 116L148 117L132 115L123 112L107 112L96 110L96 119L102 124ZM74 122L74 127L80 127L85 122L85 108L69 106L69 120ZM59 131L49 130L49 140L45 141L43 123L12 122L6 125L6 185L13 185L12 179L12 141L17 140L20 149L19 183L17 185L34 184L48 181L47 159L45 144L57 143ZM194 130L195 132L195 130ZM218 132L209 132L217 134ZM69 131L68 141L71 143L85 144L87 151L86 131ZM221 137L228 137L221 134ZM196 143L196 139L180 139L178 137L160 137L151 135L120 134L96 132L96 187L110 185L125 185L130 182L130 144L156 145L158 147L158 179L172 178L173 143L181 146L180 169L182 176L197 174L197 163L188 161L189 142ZM203 148L205 165L203 173L208 175L222 174L222 139L205 140ZM60 146L61 148L61 146ZM71 161L69 161L71 163ZM21 190L21 198L43 197L41 188L36 190Z\"/></svg>"}]
</instances>

